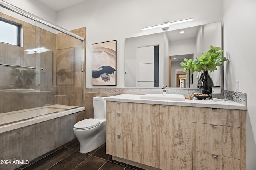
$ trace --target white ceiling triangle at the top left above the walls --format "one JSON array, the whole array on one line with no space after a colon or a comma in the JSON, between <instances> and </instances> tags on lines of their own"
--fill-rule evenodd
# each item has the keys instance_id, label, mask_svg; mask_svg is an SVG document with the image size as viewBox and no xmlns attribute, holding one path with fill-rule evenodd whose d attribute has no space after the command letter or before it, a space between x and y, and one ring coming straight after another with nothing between
<instances>
[{"instance_id":1,"label":"white ceiling triangle at the top left above the walls","mask_svg":"<svg viewBox=\"0 0 256 170\"><path fill-rule=\"evenodd\" d=\"M62 10L86 0L38 0L55 11Z\"/></svg>"}]
</instances>

